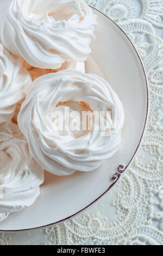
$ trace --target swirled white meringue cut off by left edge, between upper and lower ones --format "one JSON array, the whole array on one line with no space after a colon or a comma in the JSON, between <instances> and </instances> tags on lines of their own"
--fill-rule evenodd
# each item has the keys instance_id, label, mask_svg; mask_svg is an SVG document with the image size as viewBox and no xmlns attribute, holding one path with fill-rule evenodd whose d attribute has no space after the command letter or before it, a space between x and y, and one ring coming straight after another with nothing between
<instances>
[{"instance_id":1,"label":"swirled white meringue cut off by left edge, between upper and lower ones","mask_svg":"<svg viewBox=\"0 0 163 256\"><path fill-rule=\"evenodd\" d=\"M0 57L0 124L12 118L15 104L26 95L31 82L23 68L23 59L3 48L3 57Z\"/></svg>"}]
</instances>

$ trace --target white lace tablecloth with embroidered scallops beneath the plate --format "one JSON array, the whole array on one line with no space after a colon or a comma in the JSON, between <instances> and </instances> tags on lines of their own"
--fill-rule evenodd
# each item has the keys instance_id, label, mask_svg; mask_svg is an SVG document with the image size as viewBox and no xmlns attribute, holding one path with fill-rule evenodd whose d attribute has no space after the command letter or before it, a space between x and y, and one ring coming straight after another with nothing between
<instances>
[{"instance_id":1,"label":"white lace tablecloth with embroidered scallops beneath the plate","mask_svg":"<svg viewBox=\"0 0 163 256\"><path fill-rule=\"evenodd\" d=\"M83 214L52 228L0 233L0 245L163 245L163 0L86 0L139 51L151 106L139 154L118 184Z\"/></svg>"}]
</instances>

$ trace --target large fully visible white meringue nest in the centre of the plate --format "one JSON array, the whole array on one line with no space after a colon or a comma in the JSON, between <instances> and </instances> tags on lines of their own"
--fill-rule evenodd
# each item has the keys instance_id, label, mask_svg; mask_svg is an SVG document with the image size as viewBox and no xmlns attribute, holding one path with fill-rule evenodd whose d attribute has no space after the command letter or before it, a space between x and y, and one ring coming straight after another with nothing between
<instances>
[{"instance_id":1,"label":"large fully visible white meringue nest in the centre of the plate","mask_svg":"<svg viewBox=\"0 0 163 256\"><path fill-rule=\"evenodd\" d=\"M110 134L101 130L59 130L54 112L111 111ZM69 117L67 117L69 118ZM79 120L76 119L78 122ZM122 103L103 78L79 71L59 71L37 78L22 103L18 125L37 163L57 175L90 171L111 157L121 142Z\"/></svg>"}]
</instances>

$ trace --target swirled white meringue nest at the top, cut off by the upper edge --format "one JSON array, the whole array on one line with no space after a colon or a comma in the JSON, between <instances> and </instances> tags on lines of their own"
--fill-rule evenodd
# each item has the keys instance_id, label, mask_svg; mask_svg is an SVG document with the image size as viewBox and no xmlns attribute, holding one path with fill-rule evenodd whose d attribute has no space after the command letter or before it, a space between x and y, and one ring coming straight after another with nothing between
<instances>
[{"instance_id":1,"label":"swirled white meringue nest at the top, cut off by the upper edge","mask_svg":"<svg viewBox=\"0 0 163 256\"><path fill-rule=\"evenodd\" d=\"M12 0L0 23L2 44L41 69L85 61L97 25L84 0Z\"/></svg>"}]
</instances>

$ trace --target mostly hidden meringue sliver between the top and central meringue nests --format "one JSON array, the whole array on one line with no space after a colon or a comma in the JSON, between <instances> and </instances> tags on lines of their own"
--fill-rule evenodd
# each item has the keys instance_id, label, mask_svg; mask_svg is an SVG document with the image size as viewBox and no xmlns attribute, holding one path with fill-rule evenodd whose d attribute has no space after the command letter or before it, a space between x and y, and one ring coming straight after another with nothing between
<instances>
[{"instance_id":1,"label":"mostly hidden meringue sliver between the top and central meringue nests","mask_svg":"<svg viewBox=\"0 0 163 256\"><path fill-rule=\"evenodd\" d=\"M34 68L26 61L24 62L24 68L26 68L32 78L32 81L34 81L36 78L40 76L44 76L51 73L56 73L61 70L77 70L80 72L85 73L85 63L84 62L65 62L61 65L59 69L39 69Z\"/></svg>"}]
</instances>

